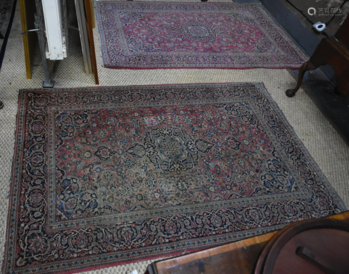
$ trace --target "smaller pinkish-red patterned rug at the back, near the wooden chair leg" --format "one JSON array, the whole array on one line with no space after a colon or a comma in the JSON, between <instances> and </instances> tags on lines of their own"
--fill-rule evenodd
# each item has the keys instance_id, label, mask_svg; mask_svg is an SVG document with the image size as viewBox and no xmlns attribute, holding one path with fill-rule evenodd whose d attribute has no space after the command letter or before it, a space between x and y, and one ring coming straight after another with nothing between
<instances>
[{"instance_id":1,"label":"smaller pinkish-red patterned rug at the back, near the wooden chair leg","mask_svg":"<svg viewBox=\"0 0 349 274\"><path fill-rule=\"evenodd\" d=\"M300 68L259 3L96 1L106 68Z\"/></svg>"}]
</instances>

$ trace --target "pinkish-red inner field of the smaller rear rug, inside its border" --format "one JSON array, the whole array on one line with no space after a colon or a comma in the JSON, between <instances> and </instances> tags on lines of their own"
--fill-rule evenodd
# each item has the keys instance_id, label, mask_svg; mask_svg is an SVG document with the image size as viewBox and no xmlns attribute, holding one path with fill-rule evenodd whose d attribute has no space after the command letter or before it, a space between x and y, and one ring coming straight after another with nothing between
<instances>
[{"instance_id":1,"label":"pinkish-red inner field of the smaller rear rug, inside its border","mask_svg":"<svg viewBox=\"0 0 349 274\"><path fill-rule=\"evenodd\" d=\"M117 13L129 54L275 52L248 15L236 13Z\"/></svg>"}]
</instances>

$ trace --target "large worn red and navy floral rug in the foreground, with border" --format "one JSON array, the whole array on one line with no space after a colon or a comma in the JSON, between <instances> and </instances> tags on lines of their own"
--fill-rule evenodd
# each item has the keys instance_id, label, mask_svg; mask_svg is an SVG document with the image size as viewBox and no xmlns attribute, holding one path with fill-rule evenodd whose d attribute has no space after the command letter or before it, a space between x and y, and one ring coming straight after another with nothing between
<instances>
[{"instance_id":1,"label":"large worn red and navy floral rug in the foreground, with border","mask_svg":"<svg viewBox=\"0 0 349 274\"><path fill-rule=\"evenodd\" d=\"M339 213L263 84L21 90L3 273L191 252Z\"/></svg>"}]
</instances>

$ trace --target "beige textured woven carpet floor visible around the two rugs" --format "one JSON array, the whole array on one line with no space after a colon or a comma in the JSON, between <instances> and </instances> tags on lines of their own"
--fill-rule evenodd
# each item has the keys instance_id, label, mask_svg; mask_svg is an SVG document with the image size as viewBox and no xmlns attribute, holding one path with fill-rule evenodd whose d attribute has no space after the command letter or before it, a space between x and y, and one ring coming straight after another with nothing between
<instances>
[{"instance_id":1,"label":"beige textured woven carpet floor visible around the two rugs","mask_svg":"<svg viewBox=\"0 0 349 274\"><path fill-rule=\"evenodd\" d=\"M17 92L22 88L40 88L43 84L43 68L38 58L32 79L26 78L22 43L20 9L17 4L15 20L10 32L3 65L0 72L0 261L6 232L8 191L13 158ZM70 30L70 57L63 61L50 62L55 87L94 86L93 75L84 73L84 63L77 32ZM103 68L98 31L94 30L98 75L100 86L135 84L181 84L211 82L263 82L279 105L297 135L318 163L329 183L349 207L349 147L325 119L314 103L301 89L294 98L287 98L285 90L296 82L288 70L252 69L158 69L158 70L113 70ZM90 273L144 273L149 261L112 268L103 268Z\"/></svg>"}]
</instances>

